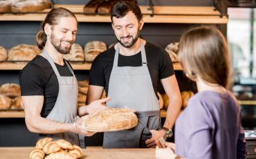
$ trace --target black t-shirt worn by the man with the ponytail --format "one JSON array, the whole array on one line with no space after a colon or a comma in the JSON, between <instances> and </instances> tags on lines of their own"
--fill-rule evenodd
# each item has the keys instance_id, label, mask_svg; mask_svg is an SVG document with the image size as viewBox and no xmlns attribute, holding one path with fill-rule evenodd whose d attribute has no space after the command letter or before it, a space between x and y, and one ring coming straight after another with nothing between
<instances>
[{"instance_id":1,"label":"black t-shirt worn by the man with the ponytail","mask_svg":"<svg viewBox=\"0 0 256 159\"><path fill-rule=\"evenodd\" d=\"M73 76L66 63L64 66L55 64L61 76ZM21 96L44 95L44 105L41 111L46 118L53 109L59 93L59 82L51 64L44 57L37 55L21 70L19 74ZM33 104L31 104L33 106Z\"/></svg>"}]
</instances>

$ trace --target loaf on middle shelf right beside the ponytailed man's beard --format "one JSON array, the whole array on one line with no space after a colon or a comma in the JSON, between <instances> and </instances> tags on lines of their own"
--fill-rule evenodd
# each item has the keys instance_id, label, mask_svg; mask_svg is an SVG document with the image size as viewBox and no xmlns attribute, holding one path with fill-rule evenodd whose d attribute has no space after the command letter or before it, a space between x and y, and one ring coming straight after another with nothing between
<instances>
[{"instance_id":1,"label":"loaf on middle shelf right beside the ponytailed man's beard","mask_svg":"<svg viewBox=\"0 0 256 159\"><path fill-rule=\"evenodd\" d=\"M80 44L73 44L70 53L64 55L69 62L84 62L84 50Z\"/></svg>"}]
</instances>

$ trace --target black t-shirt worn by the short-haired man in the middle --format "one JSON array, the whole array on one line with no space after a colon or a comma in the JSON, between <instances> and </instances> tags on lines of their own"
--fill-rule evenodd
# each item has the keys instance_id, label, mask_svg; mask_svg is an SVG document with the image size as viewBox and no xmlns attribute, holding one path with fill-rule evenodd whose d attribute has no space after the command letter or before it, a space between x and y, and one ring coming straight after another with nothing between
<instances>
[{"instance_id":1,"label":"black t-shirt worn by the short-haired man in the middle","mask_svg":"<svg viewBox=\"0 0 256 159\"><path fill-rule=\"evenodd\" d=\"M170 55L168 55L163 48L149 42L145 44L145 52L147 67L156 93L160 79L174 75L172 60ZM100 55L94 59L91 66L89 84L104 86L106 93L108 93L109 89L109 78L113 68L115 53L116 50L114 47L109 48L109 50L100 53ZM141 53L131 56L119 55L118 66L142 66Z\"/></svg>"}]
</instances>

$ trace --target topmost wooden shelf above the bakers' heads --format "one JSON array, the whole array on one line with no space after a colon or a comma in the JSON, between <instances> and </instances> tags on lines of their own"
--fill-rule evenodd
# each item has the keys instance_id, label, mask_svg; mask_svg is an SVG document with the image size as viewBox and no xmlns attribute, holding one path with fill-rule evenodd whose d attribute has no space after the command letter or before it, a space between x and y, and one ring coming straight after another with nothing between
<instances>
[{"instance_id":1,"label":"topmost wooden shelf above the bakers' heads","mask_svg":"<svg viewBox=\"0 0 256 159\"><path fill-rule=\"evenodd\" d=\"M55 5L75 13L79 22L111 22L107 15L84 15L84 5ZM227 24L228 17L211 6L140 6L146 23L176 23L176 24ZM43 21L50 9L26 14L2 14L0 21ZM153 16L152 16L153 15Z\"/></svg>"}]
</instances>

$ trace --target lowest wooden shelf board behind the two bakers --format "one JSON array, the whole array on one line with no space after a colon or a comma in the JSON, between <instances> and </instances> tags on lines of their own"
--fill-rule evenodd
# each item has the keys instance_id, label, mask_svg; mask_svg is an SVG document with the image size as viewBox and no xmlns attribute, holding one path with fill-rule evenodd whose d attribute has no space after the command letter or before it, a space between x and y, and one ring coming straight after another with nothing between
<instances>
[{"instance_id":1,"label":"lowest wooden shelf board behind the two bakers","mask_svg":"<svg viewBox=\"0 0 256 159\"><path fill-rule=\"evenodd\" d=\"M161 117L166 117L166 111L161 110ZM0 118L25 118L24 111L0 111Z\"/></svg>"}]
</instances>

